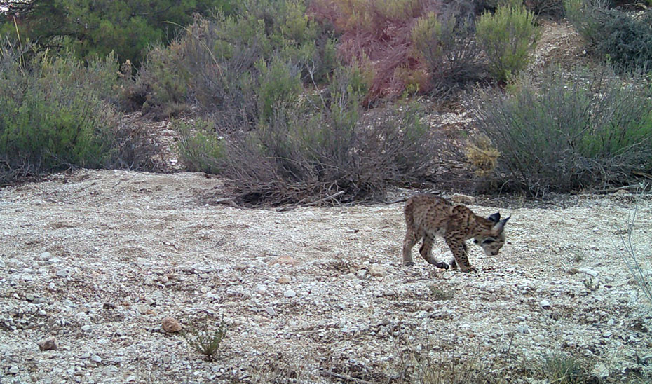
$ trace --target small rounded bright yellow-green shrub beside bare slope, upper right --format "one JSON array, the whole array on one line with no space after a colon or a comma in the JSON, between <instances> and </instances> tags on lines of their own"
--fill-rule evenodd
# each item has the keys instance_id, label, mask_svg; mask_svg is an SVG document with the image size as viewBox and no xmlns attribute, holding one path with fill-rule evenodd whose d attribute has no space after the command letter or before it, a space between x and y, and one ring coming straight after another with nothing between
<instances>
[{"instance_id":1,"label":"small rounded bright yellow-green shrub beside bare slope, upper right","mask_svg":"<svg viewBox=\"0 0 652 384\"><path fill-rule=\"evenodd\" d=\"M539 32L534 15L523 6L498 6L493 15L485 12L480 16L477 40L496 80L505 81L527 65Z\"/></svg>"}]
</instances>

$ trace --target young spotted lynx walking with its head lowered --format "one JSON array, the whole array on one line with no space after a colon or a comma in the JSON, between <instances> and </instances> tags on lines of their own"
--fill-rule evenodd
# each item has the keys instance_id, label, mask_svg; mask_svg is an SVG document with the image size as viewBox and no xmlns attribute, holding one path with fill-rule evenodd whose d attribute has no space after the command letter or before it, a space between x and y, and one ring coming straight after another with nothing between
<instances>
[{"instance_id":1,"label":"young spotted lynx walking with its head lowered","mask_svg":"<svg viewBox=\"0 0 652 384\"><path fill-rule=\"evenodd\" d=\"M414 265L412 247L423 239L419 249L423 259L437 268L448 269L448 264L435 259L432 253L435 235L439 235L453 252L451 268L459 266L463 272L477 272L468 262L466 240L474 238L473 242L480 245L487 256L495 256L505 244L503 229L509 219L501 220L500 213L485 219L464 205L452 205L439 196L413 196L405 204L407 233L403 240L403 265Z\"/></svg>"}]
</instances>

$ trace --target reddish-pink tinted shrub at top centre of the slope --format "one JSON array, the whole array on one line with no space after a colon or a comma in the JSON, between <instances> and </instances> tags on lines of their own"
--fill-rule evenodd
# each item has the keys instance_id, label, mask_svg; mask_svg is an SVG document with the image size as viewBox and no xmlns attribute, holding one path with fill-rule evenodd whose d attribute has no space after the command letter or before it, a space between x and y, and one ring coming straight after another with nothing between
<instances>
[{"instance_id":1,"label":"reddish-pink tinted shrub at top centre of the slope","mask_svg":"<svg viewBox=\"0 0 652 384\"><path fill-rule=\"evenodd\" d=\"M373 68L367 102L406 89L430 88L427 67L412 49L416 20L437 11L433 0L315 0L308 8L315 20L330 22L340 34L338 55L348 64Z\"/></svg>"}]
</instances>

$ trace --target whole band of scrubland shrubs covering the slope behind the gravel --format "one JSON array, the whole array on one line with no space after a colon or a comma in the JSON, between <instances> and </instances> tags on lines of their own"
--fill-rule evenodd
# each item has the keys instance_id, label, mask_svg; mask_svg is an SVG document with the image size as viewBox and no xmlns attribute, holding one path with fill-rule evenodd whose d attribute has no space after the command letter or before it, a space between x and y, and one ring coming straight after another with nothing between
<instances>
[{"instance_id":1,"label":"whole band of scrubland shrubs covering the slope behind the gravel","mask_svg":"<svg viewBox=\"0 0 652 384\"><path fill-rule=\"evenodd\" d=\"M437 184L451 162L476 171L461 176L475 174L474 188L531 195L652 171L651 11L159 3L1 2L1 184L70 167L153 170L152 138L121 123L133 111L172 119L186 168L229 177L244 203L381 199ZM533 81L524 69L550 18L578 30L590 65L551 63ZM426 118L451 100L475 119L454 135Z\"/></svg>"}]
</instances>

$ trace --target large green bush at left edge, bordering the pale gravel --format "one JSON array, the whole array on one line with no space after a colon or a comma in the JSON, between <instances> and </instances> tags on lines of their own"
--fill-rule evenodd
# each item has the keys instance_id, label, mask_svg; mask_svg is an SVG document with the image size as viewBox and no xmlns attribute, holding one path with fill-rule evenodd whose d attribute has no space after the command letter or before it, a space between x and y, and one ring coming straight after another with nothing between
<instances>
[{"instance_id":1,"label":"large green bush at left edge, bordering the pale gravel","mask_svg":"<svg viewBox=\"0 0 652 384\"><path fill-rule=\"evenodd\" d=\"M146 139L119 125L111 104L116 60L83 65L27 50L0 43L1 183L72 166L147 166Z\"/></svg>"}]
</instances>

